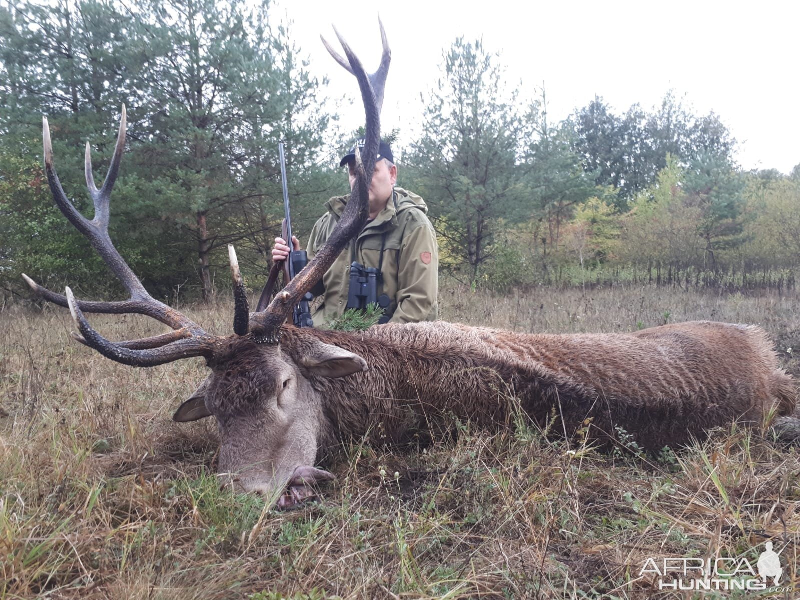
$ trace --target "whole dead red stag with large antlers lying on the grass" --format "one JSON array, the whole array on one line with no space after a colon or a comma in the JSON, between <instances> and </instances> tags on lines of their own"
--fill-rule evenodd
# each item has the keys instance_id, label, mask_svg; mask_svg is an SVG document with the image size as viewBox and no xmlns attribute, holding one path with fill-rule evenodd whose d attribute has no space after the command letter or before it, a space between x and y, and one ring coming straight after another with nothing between
<instances>
[{"instance_id":1,"label":"whole dead red stag with large antlers lying on the grass","mask_svg":"<svg viewBox=\"0 0 800 600\"><path fill-rule=\"evenodd\" d=\"M333 477L314 467L319 454L343 439L382 426L390 441L455 414L484 425L510 422L522 410L544 423L555 412L559 434L578 430L610 441L625 430L646 449L699 438L736 419L762 423L773 409L794 410L792 378L778 368L766 334L755 326L689 322L633 334L517 334L446 322L376 326L362 333L297 329L284 324L298 299L322 277L348 240L364 226L367 190L380 136L379 114L390 62L383 55L367 75L339 36L346 59L326 44L358 79L366 111L366 143L357 154L358 181L328 244L270 306L250 313L234 250L234 335L208 334L147 293L108 236L109 197L125 144L122 110L117 146L100 190L86 146L86 183L94 200L89 221L66 198L53 166L44 123L45 167L55 202L89 238L126 286L124 302L76 300L26 277L33 290L69 306L78 342L111 360L154 366L206 358L209 378L174 414L180 422L214 416L219 470L241 490L261 491L290 506L314 494L312 484ZM323 40L324 42L324 40ZM110 342L85 312L138 313L172 331ZM586 434L586 433L584 433Z\"/></svg>"}]
</instances>

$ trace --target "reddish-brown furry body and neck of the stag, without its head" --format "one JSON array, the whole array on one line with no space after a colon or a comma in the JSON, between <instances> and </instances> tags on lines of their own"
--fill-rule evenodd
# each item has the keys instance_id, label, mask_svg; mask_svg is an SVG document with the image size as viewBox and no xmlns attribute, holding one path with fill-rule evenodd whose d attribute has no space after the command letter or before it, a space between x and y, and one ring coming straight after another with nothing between
<instances>
[{"instance_id":1,"label":"reddish-brown furry body and neck of the stag, without its head","mask_svg":"<svg viewBox=\"0 0 800 600\"><path fill-rule=\"evenodd\" d=\"M400 441L455 414L486 426L558 415L572 436L591 418L590 438L617 428L660 450L701 438L738 418L761 423L772 406L794 410L794 382L778 369L763 330L687 322L633 334L518 334L446 322L374 327L363 333L286 328L282 347L302 359L302 338L358 354L369 369L311 378L322 402L318 443L380 431Z\"/></svg>"}]
</instances>

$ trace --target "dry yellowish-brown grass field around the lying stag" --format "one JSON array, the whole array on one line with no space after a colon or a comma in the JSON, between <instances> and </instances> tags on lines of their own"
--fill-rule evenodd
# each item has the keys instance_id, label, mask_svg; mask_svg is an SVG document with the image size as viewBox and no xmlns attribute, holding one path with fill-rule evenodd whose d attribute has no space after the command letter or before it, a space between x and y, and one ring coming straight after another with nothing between
<instances>
[{"instance_id":1,"label":"dry yellowish-brown grass field around the lying stag","mask_svg":"<svg viewBox=\"0 0 800 600\"><path fill-rule=\"evenodd\" d=\"M798 305L654 288L451 288L442 318L549 332L755 322L797 372L787 348L800 350ZM231 314L226 304L194 318L225 332ZM111 338L160 331L132 317L92 322ZM117 365L69 330L66 310L0 314L2 599L692 598L654 590L639 576L644 560L755 563L767 538L786 544L782 585L800 583L798 454L748 431L645 457L568 450L522 420L496 434L454 423L454 440L425 450L342 448L322 502L276 513L218 490L213 423L170 420L202 362Z\"/></svg>"}]
</instances>

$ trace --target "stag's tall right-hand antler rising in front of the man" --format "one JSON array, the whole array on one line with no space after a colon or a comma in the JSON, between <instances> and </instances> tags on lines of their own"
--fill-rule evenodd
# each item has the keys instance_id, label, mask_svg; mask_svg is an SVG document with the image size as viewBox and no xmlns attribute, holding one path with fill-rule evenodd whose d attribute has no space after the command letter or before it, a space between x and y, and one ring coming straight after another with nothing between
<instances>
[{"instance_id":1,"label":"stag's tall right-hand antler rising in front of the man","mask_svg":"<svg viewBox=\"0 0 800 600\"><path fill-rule=\"evenodd\" d=\"M378 19L380 23L380 19ZM355 150L356 160L356 182L353 186L352 194L350 194L350 202L347 202L342 217L330 234L330 238L325 246L314 256L298 275L292 279L288 286L286 286L281 294L278 294L270 306L265 310L250 315L250 332L254 335L254 339L258 342L276 344L278 343L278 334L280 326L286 321L287 315L290 313L295 304L300 301L300 298L312 287L314 284L322 279L322 275L334 263L342 249L354 238L359 231L362 230L366 223L366 218L369 214L369 190L370 182L372 180L372 173L375 169L375 157L378 155L378 146L381 137L381 103L383 98L383 89L386 84L386 74L389 70L390 50L389 44L386 42L386 32L383 30L383 24L380 23L381 38L383 42L383 56L381 65L374 74L368 75L354 54L350 46L342 38L334 27L336 37L339 43L342 44L347 57L347 61L339 56L325 41L325 47L330 54L334 57L336 62L344 66L346 70L355 75L358 80L358 87L361 89L362 101L364 102L364 111L366 113L366 135L364 141L364 148L362 154L358 152L358 146ZM363 162L362 162L363 161Z\"/></svg>"}]
</instances>

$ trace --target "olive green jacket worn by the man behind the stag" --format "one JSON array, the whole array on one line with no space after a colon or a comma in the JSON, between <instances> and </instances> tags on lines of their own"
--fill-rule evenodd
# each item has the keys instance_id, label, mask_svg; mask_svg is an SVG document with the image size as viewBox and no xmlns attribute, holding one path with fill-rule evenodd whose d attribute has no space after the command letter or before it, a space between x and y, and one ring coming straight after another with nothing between
<instances>
[{"instance_id":1,"label":"olive green jacket worn by the man behind the stag","mask_svg":"<svg viewBox=\"0 0 800 600\"><path fill-rule=\"evenodd\" d=\"M314 258L325 245L342 216L346 196L330 198L328 212L314 224L308 246L308 258ZM396 206L396 208L395 208ZM386 294L391 300L390 322L405 323L433 321L438 314L439 250L436 234L425 216L428 207L417 194L394 188L393 198L378 216L368 222L355 240L351 240L322 278L324 301L313 311L314 326L325 326L330 318L341 316L347 305L350 288L350 263L378 267L383 234L382 284L378 296ZM355 252L353 244L355 243Z\"/></svg>"}]
</instances>

